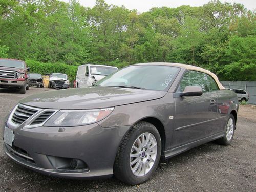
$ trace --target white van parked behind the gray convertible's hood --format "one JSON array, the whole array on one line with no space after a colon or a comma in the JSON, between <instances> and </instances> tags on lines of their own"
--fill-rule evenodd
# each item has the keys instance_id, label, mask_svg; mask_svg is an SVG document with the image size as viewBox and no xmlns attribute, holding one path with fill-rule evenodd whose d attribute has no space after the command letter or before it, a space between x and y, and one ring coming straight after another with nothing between
<instances>
[{"instance_id":1,"label":"white van parked behind the gray convertible's hood","mask_svg":"<svg viewBox=\"0 0 256 192\"><path fill-rule=\"evenodd\" d=\"M117 71L117 67L86 64L78 66L76 74L76 87L86 88L92 86L105 76Z\"/></svg>"}]
</instances>

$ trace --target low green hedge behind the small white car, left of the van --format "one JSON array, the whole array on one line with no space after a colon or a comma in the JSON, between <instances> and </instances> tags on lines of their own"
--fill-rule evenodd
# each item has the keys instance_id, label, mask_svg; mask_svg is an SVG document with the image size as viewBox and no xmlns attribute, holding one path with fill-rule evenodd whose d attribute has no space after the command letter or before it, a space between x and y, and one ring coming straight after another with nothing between
<instances>
[{"instance_id":1,"label":"low green hedge behind the small white car, left of the van","mask_svg":"<svg viewBox=\"0 0 256 192\"><path fill-rule=\"evenodd\" d=\"M69 76L72 83L76 79L78 66L70 66L64 63L42 63L34 60L26 60L27 66L30 67L31 73L40 73L42 75L52 73L64 73Z\"/></svg>"}]
</instances>

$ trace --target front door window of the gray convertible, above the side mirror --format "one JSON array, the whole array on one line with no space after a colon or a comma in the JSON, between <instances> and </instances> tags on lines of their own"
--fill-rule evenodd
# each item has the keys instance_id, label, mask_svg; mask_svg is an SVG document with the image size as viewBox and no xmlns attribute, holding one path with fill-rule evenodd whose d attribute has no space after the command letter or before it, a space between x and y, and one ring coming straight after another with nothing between
<instances>
[{"instance_id":1,"label":"front door window of the gray convertible, above the side mirror","mask_svg":"<svg viewBox=\"0 0 256 192\"><path fill-rule=\"evenodd\" d=\"M207 74L193 70L186 71L181 79L178 91L183 92L186 86L200 86L204 93L209 92Z\"/></svg>"}]
</instances>

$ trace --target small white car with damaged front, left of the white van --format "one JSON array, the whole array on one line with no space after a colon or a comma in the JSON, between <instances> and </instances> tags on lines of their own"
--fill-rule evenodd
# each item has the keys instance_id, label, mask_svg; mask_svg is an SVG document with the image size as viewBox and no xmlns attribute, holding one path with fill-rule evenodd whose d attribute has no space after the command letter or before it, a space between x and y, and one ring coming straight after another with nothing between
<instances>
[{"instance_id":1,"label":"small white car with damaged front, left of the white van","mask_svg":"<svg viewBox=\"0 0 256 192\"><path fill-rule=\"evenodd\" d=\"M69 88L69 77L63 73L53 73L49 79L49 88Z\"/></svg>"}]
</instances>

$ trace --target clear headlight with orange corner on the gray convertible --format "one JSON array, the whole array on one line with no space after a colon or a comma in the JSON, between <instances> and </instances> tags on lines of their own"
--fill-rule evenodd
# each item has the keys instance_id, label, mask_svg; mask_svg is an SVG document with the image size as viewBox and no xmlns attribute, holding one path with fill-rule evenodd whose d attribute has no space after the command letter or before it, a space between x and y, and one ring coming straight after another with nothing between
<instances>
[{"instance_id":1,"label":"clear headlight with orange corner on the gray convertible","mask_svg":"<svg viewBox=\"0 0 256 192\"><path fill-rule=\"evenodd\" d=\"M60 110L44 126L81 126L95 123L110 115L114 108L95 110Z\"/></svg>"}]
</instances>

